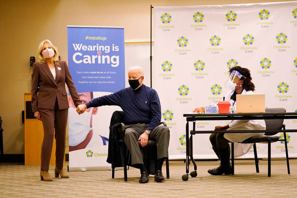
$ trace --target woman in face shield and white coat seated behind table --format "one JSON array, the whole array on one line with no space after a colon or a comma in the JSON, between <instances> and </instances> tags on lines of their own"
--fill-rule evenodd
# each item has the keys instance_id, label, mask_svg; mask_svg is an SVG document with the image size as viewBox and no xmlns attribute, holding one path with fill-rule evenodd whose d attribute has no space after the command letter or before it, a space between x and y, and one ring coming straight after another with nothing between
<instances>
[{"instance_id":1,"label":"woman in face shield and white coat seated behind table","mask_svg":"<svg viewBox=\"0 0 297 198\"><path fill-rule=\"evenodd\" d=\"M236 113L236 94L254 94L255 85L252 83L249 69L235 66L229 70L229 74L225 87L228 87L230 90L226 94L225 100L233 105L233 111ZM197 107L193 110L193 112L197 113L202 111L205 111L205 107ZM225 126L215 126L215 131L265 129L264 120L232 120ZM238 142L254 136L264 136L264 133L212 133L209 140L221 164L217 168L209 169L208 173L212 175L231 174L229 143L234 142L234 156L239 157L248 153L252 148L252 144L241 144Z\"/></svg>"}]
</instances>

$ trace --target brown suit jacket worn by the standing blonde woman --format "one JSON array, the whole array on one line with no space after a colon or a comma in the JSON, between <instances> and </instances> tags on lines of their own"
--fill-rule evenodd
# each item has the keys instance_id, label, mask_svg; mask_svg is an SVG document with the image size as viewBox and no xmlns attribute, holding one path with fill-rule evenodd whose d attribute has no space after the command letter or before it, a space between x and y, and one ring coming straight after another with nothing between
<instances>
[{"instance_id":1,"label":"brown suit jacket worn by the standing blonde woman","mask_svg":"<svg viewBox=\"0 0 297 198\"><path fill-rule=\"evenodd\" d=\"M61 68L61 69L58 69ZM68 109L68 94L65 90L65 83L68 86L74 105L81 104L76 88L66 64L66 61L55 62L56 79L48 68L48 64L33 63L32 72L32 111L38 109L54 109L56 98L58 98L59 109ZM37 87L39 94L37 97Z\"/></svg>"}]
</instances>

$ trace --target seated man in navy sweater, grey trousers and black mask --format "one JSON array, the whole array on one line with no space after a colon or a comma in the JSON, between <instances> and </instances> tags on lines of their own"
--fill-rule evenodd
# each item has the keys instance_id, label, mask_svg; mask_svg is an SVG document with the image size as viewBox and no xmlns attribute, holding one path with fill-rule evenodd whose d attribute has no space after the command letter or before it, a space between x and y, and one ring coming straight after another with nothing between
<instances>
[{"instance_id":1,"label":"seated man in navy sweater, grey trousers and black mask","mask_svg":"<svg viewBox=\"0 0 297 198\"><path fill-rule=\"evenodd\" d=\"M117 105L124 111L125 137L131 157L132 164L137 164L140 169L139 183L148 183L149 175L146 170L138 140L142 147L146 146L148 139L157 143L157 166L155 181L165 180L162 174L162 165L168 157L169 129L159 126L161 122L161 106L157 92L143 84L144 71L139 66L129 68L128 71L130 87L119 90L113 94L98 97L90 102L79 105L76 111L81 114L85 109L104 105Z\"/></svg>"}]
</instances>

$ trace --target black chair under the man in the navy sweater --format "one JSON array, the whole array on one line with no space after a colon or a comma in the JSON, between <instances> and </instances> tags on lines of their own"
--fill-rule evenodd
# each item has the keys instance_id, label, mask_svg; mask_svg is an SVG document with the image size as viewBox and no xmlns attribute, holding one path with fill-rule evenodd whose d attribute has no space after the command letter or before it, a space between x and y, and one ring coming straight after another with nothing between
<instances>
[{"instance_id":1,"label":"black chair under the man in the navy sweater","mask_svg":"<svg viewBox=\"0 0 297 198\"><path fill-rule=\"evenodd\" d=\"M164 126L166 126L165 122L161 122L160 124L163 124ZM127 149L127 146L125 145L124 142L124 136L125 136L125 125L124 123L118 123L115 124L115 129L116 129L116 133L117 133L117 142L118 142L118 146L121 147L120 149L120 153L121 155L123 155L123 157L121 157L122 159L122 164L124 166L124 181L128 181L127 178L127 166L132 166L135 168L138 168L136 166L133 166L131 164L131 155L129 150ZM112 143L112 141L110 141L110 143ZM138 144L140 146L140 141L138 141ZM112 148L114 148L112 146ZM149 139L148 140L148 144L145 147L140 147L143 153L143 162L145 165L145 168L148 170L149 174L154 175L155 174L155 166L156 166L156 161L157 161L157 155L156 155L156 151L157 151L157 146L156 146L156 142L154 140ZM114 151L112 151L114 153ZM169 179L169 160L168 158L165 160L166 161L166 177L167 179ZM113 160L114 162L114 160ZM116 167L122 167L122 166L115 166L112 163L112 178L115 178L115 168Z\"/></svg>"}]
</instances>

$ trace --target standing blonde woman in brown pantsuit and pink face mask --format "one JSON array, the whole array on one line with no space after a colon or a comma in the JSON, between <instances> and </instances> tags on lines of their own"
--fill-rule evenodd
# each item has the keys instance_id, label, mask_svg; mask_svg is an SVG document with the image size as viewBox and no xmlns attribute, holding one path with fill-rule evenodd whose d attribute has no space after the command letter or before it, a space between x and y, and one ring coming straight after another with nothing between
<instances>
[{"instance_id":1,"label":"standing blonde woman in brown pantsuit and pink face mask","mask_svg":"<svg viewBox=\"0 0 297 198\"><path fill-rule=\"evenodd\" d=\"M48 168L54 136L56 139L55 177L60 175L61 178L69 178L63 170L69 108L65 83L75 106L81 104L68 66L65 61L59 61L58 56L56 47L49 40L42 41L38 48L39 62L33 64L32 72L32 111L38 120L42 120L44 130L40 171L40 178L44 181L53 180L48 173Z\"/></svg>"}]
</instances>

